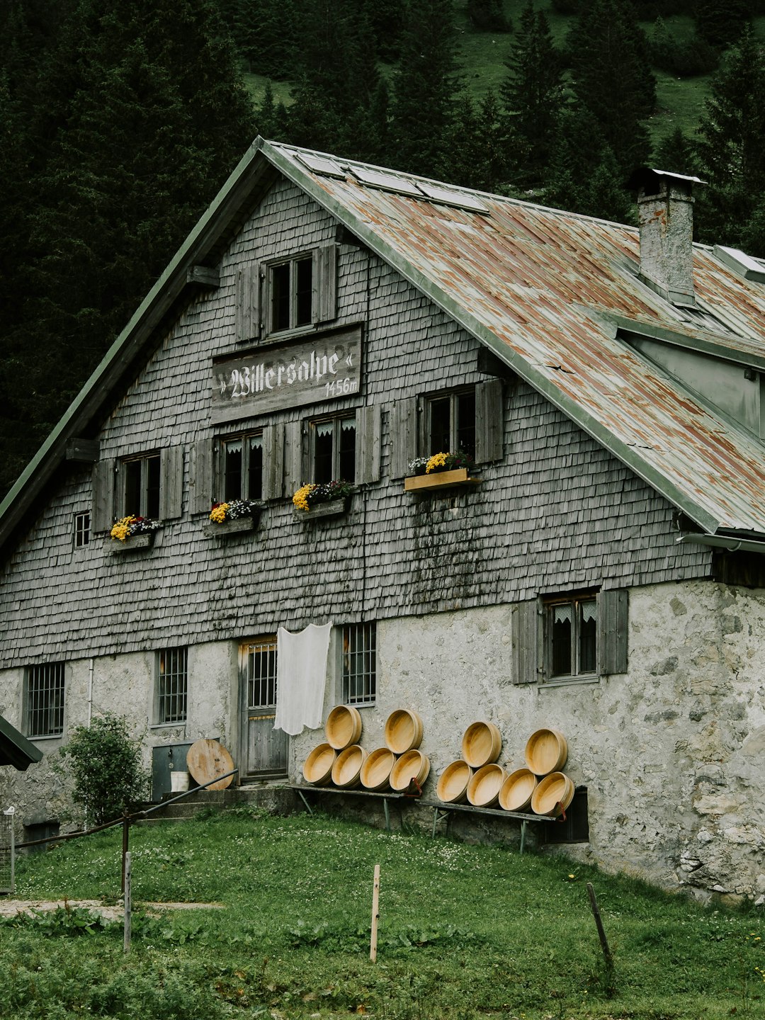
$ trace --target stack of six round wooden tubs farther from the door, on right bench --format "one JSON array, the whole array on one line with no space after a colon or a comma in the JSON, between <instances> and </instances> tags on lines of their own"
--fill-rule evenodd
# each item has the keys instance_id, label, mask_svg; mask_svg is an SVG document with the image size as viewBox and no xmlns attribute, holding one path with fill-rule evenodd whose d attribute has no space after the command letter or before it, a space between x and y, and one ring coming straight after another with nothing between
<instances>
[{"instance_id":1,"label":"stack of six round wooden tubs farther from the door, on right bench","mask_svg":"<svg viewBox=\"0 0 765 1020\"><path fill-rule=\"evenodd\" d=\"M436 787L444 804L469 802L476 808L556 817L573 798L574 785L560 770L568 758L565 736L557 729L538 729L526 742L525 768L508 772L497 759L502 735L493 722L471 723L462 737L462 758L442 772Z\"/></svg>"}]
</instances>

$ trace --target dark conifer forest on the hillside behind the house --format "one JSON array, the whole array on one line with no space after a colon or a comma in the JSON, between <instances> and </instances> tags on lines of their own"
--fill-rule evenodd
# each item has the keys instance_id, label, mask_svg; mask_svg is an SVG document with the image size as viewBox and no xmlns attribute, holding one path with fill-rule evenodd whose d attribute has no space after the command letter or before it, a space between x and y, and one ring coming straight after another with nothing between
<instances>
[{"instance_id":1,"label":"dark conifer forest on the hillside behind the house","mask_svg":"<svg viewBox=\"0 0 765 1020\"><path fill-rule=\"evenodd\" d=\"M0 495L257 134L623 222L636 165L697 173L699 240L765 256L763 30L765 0L0 0ZM509 54L480 94L471 32ZM657 73L708 83L696 130L652 138Z\"/></svg>"}]
</instances>

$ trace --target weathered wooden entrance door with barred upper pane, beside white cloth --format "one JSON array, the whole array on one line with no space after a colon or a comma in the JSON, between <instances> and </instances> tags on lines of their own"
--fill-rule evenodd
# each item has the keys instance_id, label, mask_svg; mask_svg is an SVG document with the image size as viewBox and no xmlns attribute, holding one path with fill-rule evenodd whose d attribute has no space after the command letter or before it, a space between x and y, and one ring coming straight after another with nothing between
<instances>
[{"instance_id":1,"label":"weathered wooden entrance door with barred upper pane, beside white cloth","mask_svg":"<svg viewBox=\"0 0 765 1020\"><path fill-rule=\"evenodd\" d=\"M240 648L245 776L287 773L289 737L273 728L276 717L276 639L261 638Z\"/></svg>"}]
</instances>

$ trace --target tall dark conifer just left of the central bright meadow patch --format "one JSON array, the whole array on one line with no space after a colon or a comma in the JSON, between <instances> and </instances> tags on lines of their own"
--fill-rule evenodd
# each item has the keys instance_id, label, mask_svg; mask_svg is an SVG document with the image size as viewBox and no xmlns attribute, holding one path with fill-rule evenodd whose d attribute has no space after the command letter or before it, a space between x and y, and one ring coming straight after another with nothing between
<instances>
[{"instance_id":1,"label":"tall dark conifer just left of the central bright meadow patch","mask_svg":"<svg viewBox=\"0 0 765 1020\"><path fill-rule=\"evenodd\" d=\"M451 0L408 0L391 104L392 161L401 169L427 176L444 173L456 45Z\"/></svg>"}]
</instances>

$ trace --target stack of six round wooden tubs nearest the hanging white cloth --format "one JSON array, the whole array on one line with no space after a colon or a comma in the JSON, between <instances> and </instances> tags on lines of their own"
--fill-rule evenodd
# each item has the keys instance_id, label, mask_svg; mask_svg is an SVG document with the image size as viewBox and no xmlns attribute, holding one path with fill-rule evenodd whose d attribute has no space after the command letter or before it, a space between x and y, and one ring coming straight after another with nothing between
<instances>
[{"instance_id":1,"label":"stack of six round wooden tubs nearest the hanging white cloth","mask_svg":"<svg viewBox=\"0 0 765 1020\"><path fill-rule=\"evenodd\" d=\"M338 705L326 717L326 742L319 744L303 764L303 777L314 786L334 784L341 789L385 793L422 787L430 762L419 751L422 720L411 709L396 709L389 715L385 748L367 754L358 743L361 715L352 705Z\"/></svg>"}]
</instances>

